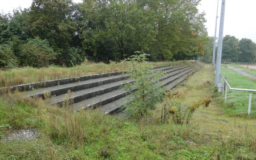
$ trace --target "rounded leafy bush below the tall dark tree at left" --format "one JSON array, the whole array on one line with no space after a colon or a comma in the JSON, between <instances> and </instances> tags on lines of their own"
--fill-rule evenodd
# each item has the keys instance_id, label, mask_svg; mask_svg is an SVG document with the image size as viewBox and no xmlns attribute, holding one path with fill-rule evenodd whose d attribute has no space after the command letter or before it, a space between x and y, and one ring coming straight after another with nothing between
<instances>
[{"instance_id":1,"label":"rounded leafy bush below the tall dark tree at left","mask_svg":"<svg viewBox=\"0 0 256 160\"><path fill-rule=\"evenodd\" d=\"M47 40L40 38L29 39L27 43L22 46L20 54L21 66L43 67L49 66L57 53L53 51Z\"/></svg>"}]
</instances>

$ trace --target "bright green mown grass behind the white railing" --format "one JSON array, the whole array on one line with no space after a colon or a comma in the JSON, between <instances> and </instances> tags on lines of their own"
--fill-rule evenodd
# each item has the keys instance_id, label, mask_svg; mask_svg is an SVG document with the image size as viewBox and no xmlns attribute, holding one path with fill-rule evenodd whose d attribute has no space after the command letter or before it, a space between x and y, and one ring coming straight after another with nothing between
<instances>
[{"instance_id":1,"label":"bright green mown grass behind the white railing","mask_svg":"<svg viewBox=\"0 0 256 160\"><path fill-rule=\"evenodd\" d=\"M254 80L245 77L234 70L226 67L221 68L221 73L227 78L232 88L256 90ZM227 104L225 105L227 114L230 116L247 117L249 103L249 92L228 90ZM252 93L251 117L256 117L256 93Z\"/></svg>"}]
</instances>

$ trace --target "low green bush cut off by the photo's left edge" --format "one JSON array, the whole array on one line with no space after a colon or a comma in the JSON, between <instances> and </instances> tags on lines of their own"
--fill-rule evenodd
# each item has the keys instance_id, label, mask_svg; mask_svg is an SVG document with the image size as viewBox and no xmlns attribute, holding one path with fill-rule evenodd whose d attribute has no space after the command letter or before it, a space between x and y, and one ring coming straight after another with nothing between
<instances>
[{"instance_id":1,"label":"low green bush cut off by the photo's left edge","mask_svg":"<svg viewBox=\"0 0 256 160\"><path fill-rule=\"evenodd\" d=\"M17 58L8 44L0 44L0 68L8 69L17 66Z\"/></svg>"}]
</instances>

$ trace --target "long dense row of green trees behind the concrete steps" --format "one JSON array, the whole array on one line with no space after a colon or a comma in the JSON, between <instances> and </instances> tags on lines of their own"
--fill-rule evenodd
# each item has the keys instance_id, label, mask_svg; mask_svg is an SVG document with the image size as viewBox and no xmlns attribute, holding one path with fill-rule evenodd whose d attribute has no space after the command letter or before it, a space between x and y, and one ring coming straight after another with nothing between
<instances>
[{"instance_id":1,"label":"long dense row of green trees behind the concrete steps","mask_svg":"<svg viewBox=\"0 0 256 160\"><path fill-rule=\"evenodd\" d=\"M118 61L144 51L150 60L203 54L208 43L200 0L33 0L0 13L0 68Z\"/></svg>"}]
</instances>

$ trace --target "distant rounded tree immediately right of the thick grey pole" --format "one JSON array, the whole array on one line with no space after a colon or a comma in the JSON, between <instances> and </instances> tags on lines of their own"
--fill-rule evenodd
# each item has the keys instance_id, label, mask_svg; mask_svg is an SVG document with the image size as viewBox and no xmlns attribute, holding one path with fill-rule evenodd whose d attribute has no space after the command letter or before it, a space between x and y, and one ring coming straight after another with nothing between
<instances>
[{"instance_id":1,"label":"distant rounded tree immediately right of the thick grey pole","mask_svg":"<svg viewBox=\"0 0 256 160\"><path fill-rule=\"evenodd\" d=\"M235 36L226 35L223 38L222 59L226 62L240 62L238 39Z\"/></svg>"}]
</instances>

